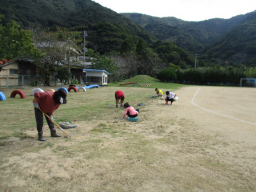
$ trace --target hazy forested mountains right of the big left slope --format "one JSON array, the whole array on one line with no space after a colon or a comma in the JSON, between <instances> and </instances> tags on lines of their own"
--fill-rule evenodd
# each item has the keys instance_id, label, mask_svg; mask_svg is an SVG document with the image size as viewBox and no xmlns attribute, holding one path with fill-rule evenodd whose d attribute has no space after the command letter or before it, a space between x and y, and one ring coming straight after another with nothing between
<instances>
[{"instance_id":1,"label":"hazy forested mountains right of the big left slope","mask_svg":"<svg viewBox=\"0 0 256 192\"><path fill-rule=\"evenodd\" d=\"M212 66L212 63L223 65L229 61L248 67L256 65L255 14L186 22L175 17L123 13L159 40L173 42L191 54L199 54L201 66Z\"/></svg>"}]
</instances>

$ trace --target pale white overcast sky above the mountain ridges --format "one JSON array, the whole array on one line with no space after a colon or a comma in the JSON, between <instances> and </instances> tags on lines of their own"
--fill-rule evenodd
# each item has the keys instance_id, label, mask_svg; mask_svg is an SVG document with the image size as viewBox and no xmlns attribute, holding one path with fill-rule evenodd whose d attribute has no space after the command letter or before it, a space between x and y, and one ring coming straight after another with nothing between
<instances>
[{"instance_id":1,"label":"pale white overcast sky above the mountain ridges","mask_svg":"<svg viewBox=\"0 0 256 192\"><path fill-rule=\"evenodd\" d=\"M256 10L256 0L93 0L116 13L142 13L186 21L230 19Z\"/></svg>"}]
</instances>

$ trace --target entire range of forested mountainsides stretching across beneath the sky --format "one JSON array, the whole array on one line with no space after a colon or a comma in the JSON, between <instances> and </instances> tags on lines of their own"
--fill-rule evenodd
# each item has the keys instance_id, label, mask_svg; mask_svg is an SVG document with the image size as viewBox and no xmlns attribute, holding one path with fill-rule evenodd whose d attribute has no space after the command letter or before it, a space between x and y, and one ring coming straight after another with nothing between
<instances>
[{"instance_id":1,"label":"entire range of forested mountainsides stretching across beneath the sky","mask_svg":"<svg viewBox=\"0 0 256 192\"><path fill-rule=\"evenodd\" d=\"M256 65L255 12L188 22L175 17L118 14L91 0L0 0L0 15L4 15L3 24L15 20L23 28L54 31L61 26L79 31L81 36L86 31L87 48L101 55L139 54L140 62L153 62L159 68L170 63L178 68L193 67L195 54L200 67L225 61L238 62L239 67ZM137 72L146 68L141 66Z\"/></svg>"}]
</instances>

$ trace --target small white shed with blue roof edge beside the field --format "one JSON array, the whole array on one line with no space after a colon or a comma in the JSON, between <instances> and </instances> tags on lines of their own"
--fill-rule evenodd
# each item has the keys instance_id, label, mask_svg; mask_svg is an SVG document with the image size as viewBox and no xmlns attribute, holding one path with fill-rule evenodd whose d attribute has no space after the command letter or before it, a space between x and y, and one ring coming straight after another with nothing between
<instances>
[{"instance_id":1,"label":"small white shed with blue roof edge beside the field","mask_svg":"<svg viewBox=\"0 0 256 192\"><path fill-rule=\"evenodd\" d=\"M85 84L101 84L106 85L108 83L109 72L100 69L83 69L85 73Z\"/></svg>"}]
</instances>

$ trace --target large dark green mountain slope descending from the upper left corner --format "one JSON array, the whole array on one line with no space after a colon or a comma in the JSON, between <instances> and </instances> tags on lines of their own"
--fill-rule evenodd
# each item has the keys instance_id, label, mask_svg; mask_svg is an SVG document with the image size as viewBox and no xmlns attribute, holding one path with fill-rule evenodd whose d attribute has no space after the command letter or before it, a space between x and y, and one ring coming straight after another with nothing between
<instances>
[{"instance_id":1,"label":"large dark green mountain slope descending from the upper left corner","mask_svg":"<svg viewBox=\"0 0 256 192\"><path fill-rule=\"evenodd\" d=\"M134 44L140 38L148 44L157 40L132 20L91 0L0 0L1 14L5 22L16 20L20 26L85 30L89 48L100 54L119 51L125 39Z\"/></svg>"}]
</instances>

